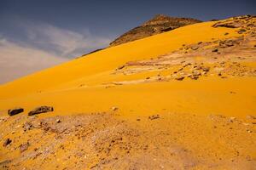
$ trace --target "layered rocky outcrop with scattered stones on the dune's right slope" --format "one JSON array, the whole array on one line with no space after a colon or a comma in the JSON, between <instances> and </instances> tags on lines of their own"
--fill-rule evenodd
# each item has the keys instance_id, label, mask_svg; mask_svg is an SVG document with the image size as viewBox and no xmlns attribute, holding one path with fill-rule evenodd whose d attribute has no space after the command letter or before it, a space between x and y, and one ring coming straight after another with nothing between
<instances>
[{"instance_id":1,"label":"layered rocky outcrop with scattered stones on the dune's right slope","mask_svg":"<svg viewBox=\"0 0 256 170\"><path fill-rule=\"evenodd\" d=\"M132 75L142 72L163 72L154 77L146 77L139 82L182 81L190 78L218 76L255 77L256 65L256 19L253 16L235 17L220 21L212 27L226 26L230 29L240 28L240 36L232 39L212 39L210 42L183 44L182 48L149 60L131 61L120 65L113 74ZM228 35L229 33L225 33ZM168 73L166 73L168 72ZM135 83L115 82L116 84Z\"/></svg>"}]
</instances>

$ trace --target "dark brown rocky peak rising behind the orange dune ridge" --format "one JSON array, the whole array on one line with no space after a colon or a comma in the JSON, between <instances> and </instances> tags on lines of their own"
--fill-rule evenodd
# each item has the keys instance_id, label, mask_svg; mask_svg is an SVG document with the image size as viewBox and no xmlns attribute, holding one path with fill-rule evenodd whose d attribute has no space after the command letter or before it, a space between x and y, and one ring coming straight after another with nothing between
<instances>
[{"instance_id":1,"label":"dark brown rocky peak rising behind the orange dune ridge","mask_svg":"<svg viewBox=\"0 0 256 170\"><path fill-rule=\"evenodd\" d=\"M160 34L165 31L171 31L181 26L187 26L201 22L201 20L189 19L189 18L176 18L163 14L157 14L152 20L148 20L141 26L133 28L131 31L126 32L122 36L115 39L110 43L110 46L116 46L125 42L132 42L144 37Z\"/></svg>"}]
</instances>

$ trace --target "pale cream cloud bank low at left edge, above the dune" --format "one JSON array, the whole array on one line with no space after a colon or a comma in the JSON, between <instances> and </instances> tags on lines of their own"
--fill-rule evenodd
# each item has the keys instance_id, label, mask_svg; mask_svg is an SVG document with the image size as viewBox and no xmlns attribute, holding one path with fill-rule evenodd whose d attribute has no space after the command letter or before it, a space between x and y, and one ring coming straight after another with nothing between
<instances>
[{"instance_id":1,"label":"pale cream cloud bank low at left edge, above the dune","mask_svg":"<svg viewBox=\"0 0 256 170\"><path fill-rule=\"evenodd\" d=\"M12 81L66 60L44 50L21 46L0 37L0 83Z\"/></svg>"}]
</instances>

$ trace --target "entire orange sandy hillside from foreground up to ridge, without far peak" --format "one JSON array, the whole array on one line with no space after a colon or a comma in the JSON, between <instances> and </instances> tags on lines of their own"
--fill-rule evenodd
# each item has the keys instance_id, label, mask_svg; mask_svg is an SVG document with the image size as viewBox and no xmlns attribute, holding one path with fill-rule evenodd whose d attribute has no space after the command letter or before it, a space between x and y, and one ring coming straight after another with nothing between
<instances>
[{"instance_id":1,"label":"entire orange sandy hillside from foreground up to ridge, without far peak","mask_svg":"<svg viewBox=\"0 0 256 170\"><path fill-rule=\"evenodd\" d=\"M1 85L0 168L253 169L255 37L201 22Z\"/></svg>"}]
</instances>

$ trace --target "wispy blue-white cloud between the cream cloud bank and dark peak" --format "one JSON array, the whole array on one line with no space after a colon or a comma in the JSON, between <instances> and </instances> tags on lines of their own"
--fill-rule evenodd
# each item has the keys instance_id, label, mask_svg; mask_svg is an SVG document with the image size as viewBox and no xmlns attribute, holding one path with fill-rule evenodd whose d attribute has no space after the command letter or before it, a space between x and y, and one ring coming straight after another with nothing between
<instances>
[{"instance_id":1,"label":"wispy blue-white cloud between the cream cloud bank and dark peak","mask_svg":"<svg viewBox=\"0 0 256 170\"><path fill-rule=\"evenodd\" d=\"M23 25L28 41L46 48L62 57L77 57L97 48L107 47L109 38L92 36L84 29L83 33L69 31L46 23Z\"/></svg>"}]
</instances>

